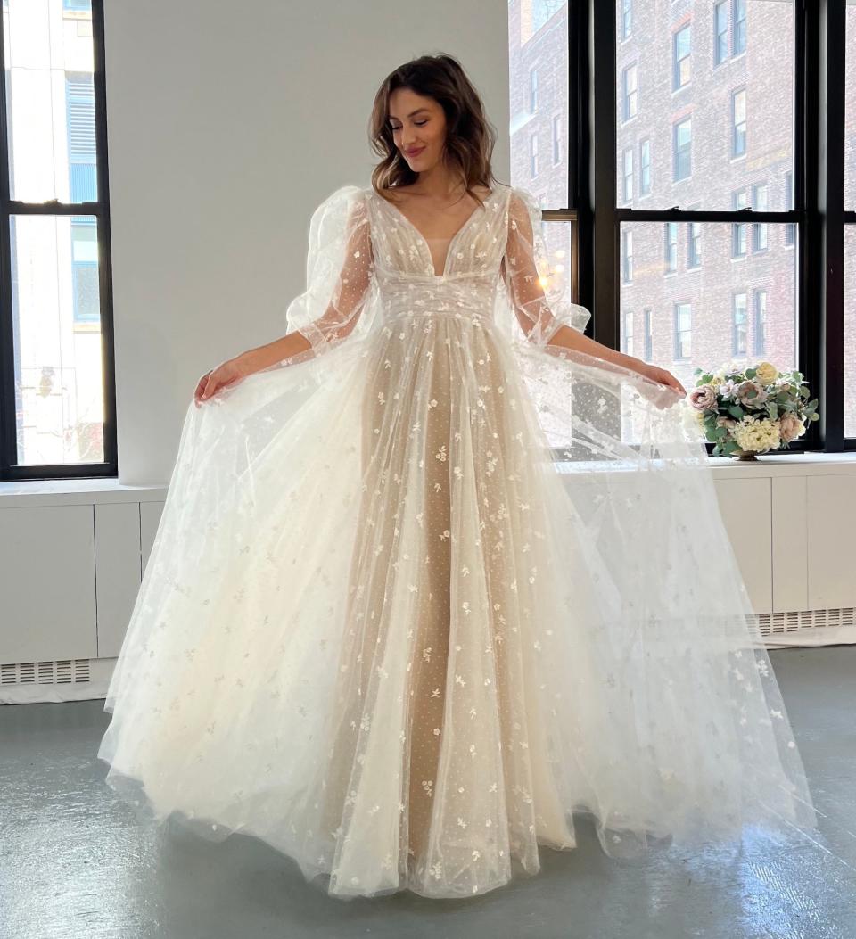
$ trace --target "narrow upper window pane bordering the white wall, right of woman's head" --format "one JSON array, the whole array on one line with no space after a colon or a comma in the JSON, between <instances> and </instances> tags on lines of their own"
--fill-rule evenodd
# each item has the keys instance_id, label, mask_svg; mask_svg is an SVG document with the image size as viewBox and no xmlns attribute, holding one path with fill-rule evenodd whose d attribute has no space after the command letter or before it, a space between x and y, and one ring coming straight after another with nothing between
<instances>
[{"instance_id":1,"label":"narrow upper window pane bordering the white wall, right of woman's head","mask_svg":"<svg viewBox=\"0 0 856 939\"><path fill-rule=\"evenodd\" d=\"M567 206L567 0L533 0L527 12L509 8L511 183L541 196L543 208L574 208Z\"/></svg>"}]
</instances>

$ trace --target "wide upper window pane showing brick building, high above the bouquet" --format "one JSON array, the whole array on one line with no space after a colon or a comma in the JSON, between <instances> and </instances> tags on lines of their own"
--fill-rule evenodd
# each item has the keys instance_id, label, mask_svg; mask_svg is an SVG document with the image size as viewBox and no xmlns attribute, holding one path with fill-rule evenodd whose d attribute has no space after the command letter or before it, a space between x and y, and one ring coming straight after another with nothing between
<instances>
[{"instance_id":1,"label":"wide upper window pane showing brick building, high above the bouquet","mask_svg":"<svg viewBox=\"0 0 856 939\"><path fill-rule=\"evenodd\" d=\"M626 148L650 139L644 208L726 210L733 190L767 183L769 209L784 210L780 182L793 170L792 0L638 0L634 16L645 28L616 54L616 164ZM639 195L637 187L635 202Z\"/></svg>"}]
</instances>

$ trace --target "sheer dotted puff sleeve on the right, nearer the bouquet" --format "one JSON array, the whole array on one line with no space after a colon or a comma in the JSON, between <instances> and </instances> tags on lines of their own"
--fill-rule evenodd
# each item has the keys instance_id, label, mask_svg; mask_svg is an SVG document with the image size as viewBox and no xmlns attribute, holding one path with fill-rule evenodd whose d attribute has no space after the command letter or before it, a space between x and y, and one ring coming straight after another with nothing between
<instances>
[{"instance_id":1,"label":"sheer dotted puff sleeve on the right, nearer the bouquet","mask_svg":"<svg viewBox=\"0 0 856 939\"><path fill-rule=\"evenodd\" d=\"M508 215L502 276L524 335L536 346L547 346L561 326L584 331L591 314L572 302L570 283L554 276L541 228L541 207L535 197L513 189Z\"/></svg>"}]
</instances>

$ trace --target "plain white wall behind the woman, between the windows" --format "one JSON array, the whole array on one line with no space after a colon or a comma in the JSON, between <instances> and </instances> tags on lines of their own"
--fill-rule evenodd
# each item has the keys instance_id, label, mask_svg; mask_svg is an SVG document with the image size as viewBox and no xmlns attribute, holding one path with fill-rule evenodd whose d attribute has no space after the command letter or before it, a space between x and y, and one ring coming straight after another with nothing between
<instances>
[{"instance_id":1,"label":"plain white wall behind the woman, between the windows","mask_svg":"<svg viewBox=\"0 0 856 939\"><path fill-rule=\"evenodd\" d=\"M455 55L509 181L505 0L105 4L119 482L168 482L198 377L285 331L309 220L369 184L374 93Z\"/></svg>"}]
</instances>

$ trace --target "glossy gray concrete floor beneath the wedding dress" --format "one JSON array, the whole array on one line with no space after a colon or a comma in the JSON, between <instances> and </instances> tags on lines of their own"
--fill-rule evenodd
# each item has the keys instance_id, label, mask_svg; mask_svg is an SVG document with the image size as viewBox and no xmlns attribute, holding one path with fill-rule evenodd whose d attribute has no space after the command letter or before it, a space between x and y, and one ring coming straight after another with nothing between
<instances>
[{"instance_id":1,"label":"glossy gray concrete floor beneath the wedding dress","mask_svg":"<svg viewBox=\"0 0 856 939\"><path fill-rule=\"evenodd\" d=\"M577 847L543 848L535 877L451 901L333 900L257 839L142 826L103 783L102 700L0 707L0 937L856 939L856 647L770 656L819 842L621 862L580 820Z\"/></svg>"}]
</instances>

